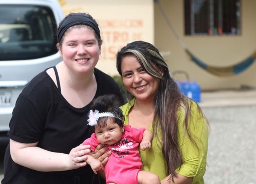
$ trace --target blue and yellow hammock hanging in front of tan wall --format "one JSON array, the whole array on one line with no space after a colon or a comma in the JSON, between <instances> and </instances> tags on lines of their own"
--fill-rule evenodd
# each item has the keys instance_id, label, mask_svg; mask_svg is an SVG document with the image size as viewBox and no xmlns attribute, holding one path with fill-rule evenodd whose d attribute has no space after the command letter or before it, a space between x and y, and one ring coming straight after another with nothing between
<instances>
[{"instance_id":1,"label":"blue and yellow hammock hanging in front of tan wall","mask_svg":"<svg viewBox=\"0 0 256 184\"><path fill-rule=\"evenodd\" d=\"M158 0L155 0L155 3L158 5L159 10L162 13L163 18L165 19L166 23L168 24L169 28L171 29L172 33L178 40L178 42L181 44L181 46L184 48L185 53L189 56L189 59L193 61L195 64L197 64L199 67L204 69L205 71L208 71L209 73L220 76L220 77L227 77L227 76L233 76L237 75L247 68L249 68L255 61L256 58L256 51L252 53L249 57L247 57L245 60L241 61L240 63L234 64L232 66L227 67L218 67L218 66L210 66L205 64L203 61L198 59L197 57L192 54L188 48L185 47L185 45L182 43L181 39L179 38L178 34L174 30L171 22L169 21L168 17L166 16L165 12L162 9L161 4Z\"/></svg>"}]
</instances>

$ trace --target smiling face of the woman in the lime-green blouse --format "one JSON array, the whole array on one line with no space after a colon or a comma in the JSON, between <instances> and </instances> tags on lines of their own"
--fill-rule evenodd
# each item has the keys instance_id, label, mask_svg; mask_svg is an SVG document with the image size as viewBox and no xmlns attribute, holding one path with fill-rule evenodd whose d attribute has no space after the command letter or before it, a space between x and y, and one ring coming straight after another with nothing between
<instances>
[{"instance_id":1,"label":"smiling face of the woman in the lime-green blouse","mask_svg":"<svg viewBox=\"0 0 256 184\"><path fill-rule=\"evenodd\" d=\"M122 58L121 74L124 86L136 100L153 101L159 88L159 79L148 74L135 56Z\"/></svg>"}]
</instances>

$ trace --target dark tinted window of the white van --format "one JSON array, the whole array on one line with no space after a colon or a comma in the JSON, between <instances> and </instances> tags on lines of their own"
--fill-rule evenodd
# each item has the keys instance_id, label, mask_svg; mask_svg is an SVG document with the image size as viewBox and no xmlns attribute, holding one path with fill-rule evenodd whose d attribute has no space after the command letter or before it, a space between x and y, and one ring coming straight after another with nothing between
<instances>
[{"instance_id":1,"label":"dark tinted window of the white van","mask_svg":"<svg viewBox=\"0 0 256 184\"><path fill-rule=\"evenodd\" d=\"M57 52L56 21L49 7L0 6L0 61L27 60Z\"/></svg>"}]
</instances>

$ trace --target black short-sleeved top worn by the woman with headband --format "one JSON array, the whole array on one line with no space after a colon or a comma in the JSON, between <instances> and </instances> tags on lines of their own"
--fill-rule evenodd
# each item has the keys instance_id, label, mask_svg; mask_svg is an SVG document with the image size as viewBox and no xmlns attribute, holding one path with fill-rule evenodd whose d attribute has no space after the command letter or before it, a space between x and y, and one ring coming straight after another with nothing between
<instances>
[{"instance_id":1,"label":"black short-sleeved top worn by the woman with headband","mask_svg":"<svg viewBox=\"0 0 256 184\"><path fill-rule=\"evenodd\" d=\"M94 98L116 94L122 100L117 83L95 68L97 91ZM9 137L20 143L38 142L48 151L68 154L91 136L87 125L89 106L71 106L56 87L46 70L34 77L19 95L10 120ZM4 157L2 184L70 184L91 183L90 165L71 171L39 172L13 162L10 148Z\"/></svg>"}]
</instances>

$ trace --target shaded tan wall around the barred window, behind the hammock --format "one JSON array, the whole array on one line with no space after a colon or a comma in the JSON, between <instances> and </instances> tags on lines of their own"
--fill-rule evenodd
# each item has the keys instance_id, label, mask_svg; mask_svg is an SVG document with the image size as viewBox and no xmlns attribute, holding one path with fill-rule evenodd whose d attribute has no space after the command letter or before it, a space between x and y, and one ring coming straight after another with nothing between
<instances>
[{"instance_id":1,"label":"shaded tan wall around the barred window, behind the hammock","mask_svg":"<svg viewBox=\"0 0 256 184\"><path fill-rule=\"evenodd\" d=\"M241 36L184 36L184 1L159 0L178 37L191 53L211 66L232 66L256 50L256 1L241 0ZM247 70L231 77L218 77L189 60L157 4L155 4L155 45L162 52L171 72L184 70L203 90L256 87L256 62ZM183 80L184 75L175 75Z\"/></svg>"}]
</instances>

